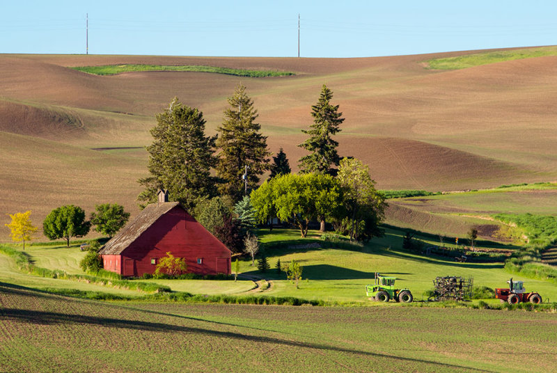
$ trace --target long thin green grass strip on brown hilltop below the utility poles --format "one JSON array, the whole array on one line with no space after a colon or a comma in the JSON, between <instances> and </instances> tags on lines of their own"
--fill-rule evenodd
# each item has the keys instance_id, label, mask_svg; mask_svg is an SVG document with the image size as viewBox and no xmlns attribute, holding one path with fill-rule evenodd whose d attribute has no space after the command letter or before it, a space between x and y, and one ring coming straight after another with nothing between
<instances>
[{"instance_id":1,"label":"long thin green grass strip on brown hilltop below the utility poles","mask_svg":"<svg viewBox=\"0 0 557 373\"><path fill-rule=\"evenodd\" d=\"M276 70L246 70L233 68L219 68L217 66L184 66L184 65L102 65L102 66L78 66L74 70L87 72L95 75L115 75L123 72L142 71L191 71L191 72L214 72L217 74L235 75L237 77L285 77L294 75L293 72Z\"/></svg>"}]
</instances>

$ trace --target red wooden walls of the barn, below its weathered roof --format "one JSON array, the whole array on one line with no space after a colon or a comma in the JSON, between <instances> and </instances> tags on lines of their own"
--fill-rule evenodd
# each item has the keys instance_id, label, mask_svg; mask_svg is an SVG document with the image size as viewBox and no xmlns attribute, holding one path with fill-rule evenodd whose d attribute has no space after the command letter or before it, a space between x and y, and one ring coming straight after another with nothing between
<instances>
[{"instance_id":1,"label":"red wooden walls of the barn, below its weathered roof","mask_svg":"<svg viewBox=\"0 0 557 373\"><path fill-rule=\"evenodd\" d=\"M123 262L123 275L154 273L156 263L168 251L175 257L185 258L188 272L230 274L228 248L177 206L161 216L123 251L120 260L120 263ZM198 259L201 259L201 264L198 264Z\"/></svg>"}]
</instances>

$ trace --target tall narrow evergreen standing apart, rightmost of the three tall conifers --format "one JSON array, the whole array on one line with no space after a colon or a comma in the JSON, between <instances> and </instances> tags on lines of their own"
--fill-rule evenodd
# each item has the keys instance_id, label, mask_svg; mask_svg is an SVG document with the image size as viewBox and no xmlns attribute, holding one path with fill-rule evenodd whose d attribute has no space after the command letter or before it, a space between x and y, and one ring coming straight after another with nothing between
<instances>
[{"instance_id":1,"label":"tall narrow evergreen standing apart, rightmost of the three tall conifers","mask_svg":"<svg viewBox=\"0 0 557 373\"><path fill-rule=\"evenodd\" d=\"M340 118L343 113L338 112L338 105L329 103L332 97L332 91L323 84L319 101L311 106L313 125L308 131L301 131L310 135L310 138L298 145L311 153L299 159L301 173L335 174L336 169L331 168L331 165L338 166L340 158L336 151L338 142L331 136L340 132L338 126L344 118Z\"/></svg>"}]
</instances>

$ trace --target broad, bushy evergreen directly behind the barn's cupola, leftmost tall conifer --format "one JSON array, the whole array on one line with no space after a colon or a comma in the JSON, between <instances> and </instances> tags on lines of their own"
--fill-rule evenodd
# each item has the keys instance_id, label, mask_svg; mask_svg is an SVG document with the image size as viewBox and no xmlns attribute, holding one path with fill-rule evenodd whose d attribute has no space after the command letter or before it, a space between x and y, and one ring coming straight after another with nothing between
<instances>
[{"instance_id":1,"label":"broad, bushy evergreen directly behind the barn's cupola, leftmost tall conifer","mask_svg":"<svg viewBox=\"0 0 557 373\"><path fill-rule=\"evenodd\" d=\"M198 109L182 105L174 98L168 109L157 114L157 125L151 129L155 139L147 147L150 177L140 179L146 189L138 200L153 203L158 189L168 189L170 198L186 209L196 200L216 195L210 168L216 164L216 136L205 136L205 120Z\"/></svg>"}]
</instances>

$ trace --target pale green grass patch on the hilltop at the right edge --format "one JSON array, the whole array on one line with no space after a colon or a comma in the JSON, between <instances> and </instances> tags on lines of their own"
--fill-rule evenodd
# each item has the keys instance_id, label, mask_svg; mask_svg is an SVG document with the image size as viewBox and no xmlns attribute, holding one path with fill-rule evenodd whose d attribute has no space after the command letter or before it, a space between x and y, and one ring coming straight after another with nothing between
<instances>
[{"instance_id":1,"label":"pale green grass patch on the hilltop at the right edge","mask_svg":"<svg viewBox=\"0 0 557 373\"><path fill-rule=\"evenodd\" d=\"M436 58L427 61L428 68L435 70L459 70L473 66L487 65L503 61L519 60L542 56L557 56L557 47L515 49L510 51L490 51L478 54L466 54L448 58Z\"/></svg>"}]
</instances>

